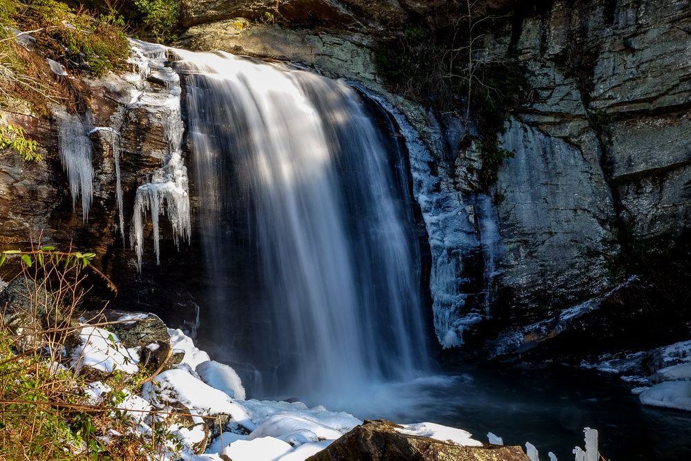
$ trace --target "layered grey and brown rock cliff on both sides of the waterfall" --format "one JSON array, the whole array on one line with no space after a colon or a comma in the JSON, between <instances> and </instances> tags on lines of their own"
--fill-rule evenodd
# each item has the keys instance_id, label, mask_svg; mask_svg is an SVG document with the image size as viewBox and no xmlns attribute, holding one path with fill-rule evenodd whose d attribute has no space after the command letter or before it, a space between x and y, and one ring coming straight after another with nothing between
<instances>
[{"instance_id":1,"label":"layered grey and brown rock cliff on both sides of the waterfall","mask_svg":"<svg viewBox=\"0 0 691 461\"><path fill-rule=\"evenodd\" d=\"M498 61L518 62L527 95L497 133L512 158L489 187L477 179L477 145L459 141L459 133L475 127L397 94L378 62L382 48L412 26L452 27L467 14L457 2L182 0L180 8L181 46L282 59L345 77L394 114L408 141L428 237L442 346L470 341L477 347L465 352L522 352L619 316L627 317L626 326L605 322L616 330L612 337L645 326L658 335L670 323L679 339L688 336L688 287L672 296L662 281L688 281L690 1L476 3L471 15L493 17L484 48ZM151 77L138 91L165 93L164 83ZM129 106L123 88L131 83L120 77L88 85L93 126L123 117L122 185L131 204L136 185L165 155L166 118L158 109ZM111 270L134 270L132 254L118 241L111 135L91 133L97 182L91 218L82 224L80 214L70 213L66 179L51 154L54 129L28 115L8 118L37 133L48 161L29 178L19 160L0 159L0 209L8 216L0 224L3 243L23 245L30 229L53 229L44 239L74 240L110 255ZM172 241L163 244L173 249ZM660 263L665 259L670 265ZM153 292L157 277L139 283ZM643 299L645 292L659 296ZM153 301L142 302L155 310Z\"/></svg>"}]
</instances>

